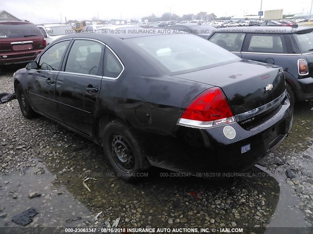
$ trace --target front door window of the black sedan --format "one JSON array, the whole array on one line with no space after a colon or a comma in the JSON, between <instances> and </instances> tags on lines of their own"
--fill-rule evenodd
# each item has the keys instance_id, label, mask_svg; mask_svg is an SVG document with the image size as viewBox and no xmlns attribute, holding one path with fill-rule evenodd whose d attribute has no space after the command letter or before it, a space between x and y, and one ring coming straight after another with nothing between
<instances>
[{"instance_id":1,"label":"front door window of the black sedan","mask_svg":"<svg viewBox=\"0 0 313 234\"><path fill-rule=\"evenodd\" d=\"M42 70L60 71L64 53L69 40L61 41L48 48L39 59L39 67Z\"/></svg>"}]
</instances>

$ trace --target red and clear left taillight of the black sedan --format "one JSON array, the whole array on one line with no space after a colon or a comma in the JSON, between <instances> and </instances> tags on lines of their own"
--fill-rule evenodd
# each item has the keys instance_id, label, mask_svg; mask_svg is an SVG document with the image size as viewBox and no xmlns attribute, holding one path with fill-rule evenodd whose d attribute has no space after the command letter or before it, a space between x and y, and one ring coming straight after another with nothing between
<instances>
[{"instance_id":1,"label":"red and clear left taillight of the black sedan","mask_svg":"<svg viewBox=\"0 0 313 234\"><path fill-rule=\"evenodd\" d=\"M226 97L219 87L206 90L184 110L179 125L209 128L234 122Z\"/></svg>"}]
</instances>

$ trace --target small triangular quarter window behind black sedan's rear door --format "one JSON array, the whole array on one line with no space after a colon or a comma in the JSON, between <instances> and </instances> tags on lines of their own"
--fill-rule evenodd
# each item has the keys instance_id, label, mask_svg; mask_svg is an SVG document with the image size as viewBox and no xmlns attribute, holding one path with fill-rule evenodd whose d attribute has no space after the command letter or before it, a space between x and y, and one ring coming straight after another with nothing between
<instances>
[{"instance_id":1,"label":"small triangular quarter window behind black sedan's rear door","mask_svg":"<svg viewBox=\"0 0 313 234\"><path fill-rule=\"evenodd\" d=\"M104 58L104 76L118 78L123 72L123 66L110 49L106 49Z\"/></svg>"}]
</instances>

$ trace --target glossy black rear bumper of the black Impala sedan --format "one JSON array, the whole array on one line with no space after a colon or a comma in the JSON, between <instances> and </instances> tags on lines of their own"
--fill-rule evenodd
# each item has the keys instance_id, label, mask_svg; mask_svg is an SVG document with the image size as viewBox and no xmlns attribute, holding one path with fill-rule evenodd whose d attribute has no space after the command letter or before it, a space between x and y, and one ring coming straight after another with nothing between
<instances>
[{"instance_id":1,"label":"glossy black rear bumper of the black Impala sedan","mask_svg":"<svg viewBox=\"0 0 313 234\"><path fill-rule=\"evenodd\" d=\"M153 142L145 143L148 159L154 166L201 177L221 177L207 172L246 171L268 156L291 130L293 107L289 99L286 98L274 112L273 116L250 130L245 130L237 122L201 130L178 126L176 135L180 140L147 138ZM225 137L225 126L236 131L235 138ZM190 142L197 144L201 141L201 147L190 145Z\"/></svg>"}]
</instances>

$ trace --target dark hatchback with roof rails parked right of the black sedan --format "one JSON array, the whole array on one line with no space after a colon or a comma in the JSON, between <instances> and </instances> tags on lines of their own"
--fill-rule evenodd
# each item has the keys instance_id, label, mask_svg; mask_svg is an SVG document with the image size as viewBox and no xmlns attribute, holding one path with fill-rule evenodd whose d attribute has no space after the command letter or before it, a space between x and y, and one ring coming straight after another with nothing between
<instances>
[{"instance_id":1,"label":"dark hatchback with roof rails parked right of the black sedan","mask_svg":"<svg viewBox=\"0 0 313 234\"><path fill-rule=\"evenodd\" d=\"M292 101L313 99L313 28L248 27L216 30L208 40L243 59L281 66Z\"/></svg>"}]
</instances>

